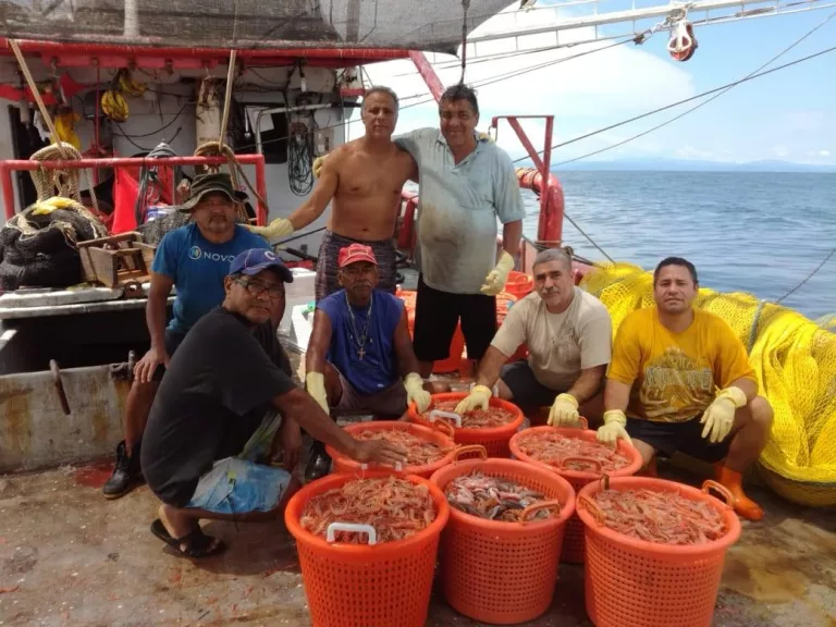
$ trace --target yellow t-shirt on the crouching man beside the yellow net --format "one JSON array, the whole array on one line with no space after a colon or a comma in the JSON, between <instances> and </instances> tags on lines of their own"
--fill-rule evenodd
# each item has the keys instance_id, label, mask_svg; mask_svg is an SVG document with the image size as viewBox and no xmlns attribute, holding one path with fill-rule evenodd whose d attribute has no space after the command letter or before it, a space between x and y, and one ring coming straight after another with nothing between
<instances>
[{"instance_id":1,"label":"yellow t-shirt on the crouching man beside the yellow net","mask_svg":"<svg viewBox=\"0 0 836 627\"><path fill-rule=\"evenodd\" d=\"M725 320L694 309L683 333L668 331L655 307L628 315L615 336L607 379L631 385L627 416L685 422L714 401L716 388L755 380L742 343Z\"/></svg>"}]
</instances>

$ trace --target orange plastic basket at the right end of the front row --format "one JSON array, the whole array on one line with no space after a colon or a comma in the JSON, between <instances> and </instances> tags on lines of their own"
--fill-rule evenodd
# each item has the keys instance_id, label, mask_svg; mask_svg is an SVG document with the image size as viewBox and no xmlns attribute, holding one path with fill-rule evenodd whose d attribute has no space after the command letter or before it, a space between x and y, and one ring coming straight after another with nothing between
<instances>
[{"instance_id":1,"label":"orange plastic basket at the right end of the front row","mask_svg":"<svg viewBox=\"0 0 836 627\"><path fill-rule=\"evenodd\" d=\"M723 575L726 551L740 537L740 520L732 494L714 481L702 491L674 481L648 477L610 480L613 490L678 492L716 508L728 528L720 540L679 546L628 538L599 521L591 499L604 481L590 483L578 494L578 515L587 534L587 614L598 627L708 627ZM726 503L708 494L721 492Z\"/></svg>"}]
</instances>

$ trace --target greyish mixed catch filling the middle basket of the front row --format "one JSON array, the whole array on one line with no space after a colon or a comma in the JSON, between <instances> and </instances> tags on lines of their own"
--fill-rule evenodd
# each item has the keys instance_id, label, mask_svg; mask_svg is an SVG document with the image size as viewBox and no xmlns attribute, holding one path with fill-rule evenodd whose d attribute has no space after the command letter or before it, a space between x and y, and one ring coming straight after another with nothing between
<instances>
[{"instance_id":1,"label":"greyish mixed catch filling the middle basket of the front row","mask_svg":"<svg viewBox=\"0 0 836 627\"><path fill-rule=\"evenodd\" d=\"M525 485L481 472L456 477L447 483L444 494L451 506L465 514L505 522L519 521L519 515L526 507L548 501L545 495ZM550 516L552 513L548 509L540 509L529 520L542 520Z\"/></svg>"}]
</instances>

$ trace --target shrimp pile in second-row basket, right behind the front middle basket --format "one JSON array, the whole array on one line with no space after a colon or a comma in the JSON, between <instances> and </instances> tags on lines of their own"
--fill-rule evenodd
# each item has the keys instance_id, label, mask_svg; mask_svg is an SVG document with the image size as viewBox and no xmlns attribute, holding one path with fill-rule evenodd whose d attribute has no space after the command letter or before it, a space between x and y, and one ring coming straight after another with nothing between
<instances>
[{"instance_id":1,"label":"shrimp pile in second-row basket, right behind the front middle basket","mask_svg":"<svg viewBox=\"0 0 836 627\"><path fill-rule=\"evenodd\" d=\"M553 431L522 432L517 446L532 459L567 470L598 471L599 469L594 464L585 463L581 459L573 459L564 467L562 463L566 457L594 459L601 464L601 470L604 472L619 470L630 464L630 459L618 453L617 448L580 438L567 438Z\"/></svg>"}]
</instances>

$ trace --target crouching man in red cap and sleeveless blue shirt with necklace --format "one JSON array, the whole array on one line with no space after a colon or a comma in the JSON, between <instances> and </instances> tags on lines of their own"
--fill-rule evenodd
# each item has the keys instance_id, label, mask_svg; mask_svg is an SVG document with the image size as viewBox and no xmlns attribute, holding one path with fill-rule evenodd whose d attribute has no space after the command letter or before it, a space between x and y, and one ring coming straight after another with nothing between
<instances>
[{"instance_id":1,"label":"crouching man in red cap and sleeveless blue shirt with necklace","mask_svg":"<svg viewBox=\"0 0 836 627\"><path fill-rule=\"evenodd\" d=\"M406 309L399 298L376 288L378 261L371 247L342 248L337 266L343 288L317 303L314 314L305 355L308 393L332 416L366 411L399 418L411 402L427 410L430 393L450 388L425 383L418 374ZM324 445L315 442L305 478L327 475L330 465Z\"/></svg>"}]
</instances>

